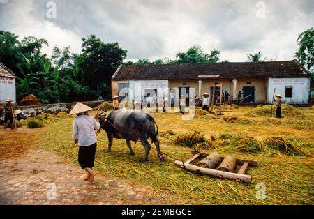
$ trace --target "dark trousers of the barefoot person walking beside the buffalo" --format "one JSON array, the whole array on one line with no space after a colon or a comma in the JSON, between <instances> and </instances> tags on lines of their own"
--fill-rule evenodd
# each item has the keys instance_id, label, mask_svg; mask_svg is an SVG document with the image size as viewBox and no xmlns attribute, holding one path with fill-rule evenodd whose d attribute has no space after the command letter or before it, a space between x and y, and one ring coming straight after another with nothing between
<instances>
[{"instance_id":1,"label":"dark trousers of the barefoot person walking beside the buffalo","mask_svg":"<svg viewBox=\"0 0 314 219\"><path fill-rule=\"evenodd\" d=\"M78 162L82 169L87 167L93 168L95 161L95 153L96 153L97 143L91 144L89 146L80 146Z\"/></svg>"}]
</instances>

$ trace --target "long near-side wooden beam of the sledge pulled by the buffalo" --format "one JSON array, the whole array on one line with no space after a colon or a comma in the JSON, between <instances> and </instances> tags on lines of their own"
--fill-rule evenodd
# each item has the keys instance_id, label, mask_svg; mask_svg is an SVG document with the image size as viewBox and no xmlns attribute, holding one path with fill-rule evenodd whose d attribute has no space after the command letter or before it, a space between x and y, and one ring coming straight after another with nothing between
<instances>
[{"instance_id":1,"label":"long near-side wooden beam of the sledge pulled by the buffalo","mask_svg":"<svg viewBox=\"0 0 314 219\"><path fill-rule=\"evenodd\" d=\"M206 174L209 176L215 176L220 179L231 179L234 181L241 181L243 183L251 183L252 181L252 176L245 175L245 174L235 174L232 172L223 172L219 171L216 169L209 169L209 168L204 168L204 167L197 167L195 165L191 165L189 163L182 163L179 160L174 161L174 164L177 165L178 167L184 168L190 172L194 172L197 174Z\"/></svg>"}]
</instances>

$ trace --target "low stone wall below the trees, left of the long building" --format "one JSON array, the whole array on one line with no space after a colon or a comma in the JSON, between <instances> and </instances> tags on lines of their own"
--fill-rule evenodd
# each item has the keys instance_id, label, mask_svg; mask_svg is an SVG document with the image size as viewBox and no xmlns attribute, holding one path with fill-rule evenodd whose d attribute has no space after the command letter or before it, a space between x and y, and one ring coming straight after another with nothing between
<instances>
[{"instance_id":1,"label":"low stone wall below the trees, left of the long building","mask_svg":"<svg viewBox=\"0 0 314 219\"><path fill-rule=\"evenodd\" d=\"M88 101L81 102L91 108L98 107L103 101ZM15 106L14 110L21 110L26 116L36 116L42 113L57 114L59 112L70 112L76 103L55 103L46 105L32 105L32 106ZM4 110L0 110L0 123L4 121Z\"/></svg>"}]
</instances>

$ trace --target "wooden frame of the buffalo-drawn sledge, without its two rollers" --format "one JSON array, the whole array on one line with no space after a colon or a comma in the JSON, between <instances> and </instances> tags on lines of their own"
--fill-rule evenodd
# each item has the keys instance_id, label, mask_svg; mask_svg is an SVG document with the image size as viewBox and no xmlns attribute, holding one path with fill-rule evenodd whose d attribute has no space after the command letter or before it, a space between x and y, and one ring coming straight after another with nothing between
<instances>
[{"instance_id":1,"label":"wooden frame of the buffalo-drawn sledge, without its two rollers","mask_svg":"<svg viewBox=\"0 0 314 219\"><path fill-rule=\"evenodd\" d=\"M241 168L239 169L239 172L234 173L234 172L225 172L217 169L210 169L210 168L205 168L205 167L199 167L197 165L193 165L194 160L197 158L207 158L209 156L206 153L201 153L200 151L195 151L192 150L192 154L194 155L192 158L186 160L186 162L182 162L179 160L175 160L174 164L177 165L178 167L183 168L184 170L187 170L189 172L194 172L197 174L206 174L209 176L215 176L220 179L231 179L234 181L239 181L242 183L251 183L252 181L252 176L246 175L246 169L248 167L257 167L257 162L256 161L251 161L251 160L241 160L241 159L235 159L236 165L241 165ZM225 157L220 156L221 160L224 160ZM223 163L223 162L221 162Z\"/></svg>"}]
</instances>

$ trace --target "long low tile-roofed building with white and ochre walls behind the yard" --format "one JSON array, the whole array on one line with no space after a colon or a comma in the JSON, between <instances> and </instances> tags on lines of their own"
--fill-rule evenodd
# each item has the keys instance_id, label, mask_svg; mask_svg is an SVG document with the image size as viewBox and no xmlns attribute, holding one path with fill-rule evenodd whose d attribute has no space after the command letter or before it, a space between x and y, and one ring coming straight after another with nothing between
<instances>
[{"instance_id":1,"label":"long low tile-roofed building with white and ochre walls behind the yard","mask_svg":"<svg viewBox=\"0 0 314 219\"><path fill-rule=\"evenodd\" d=\"M276 89L283 103L308 104L308 72L297 60L229 63L182 63L165 65L121 65L112 77L112 96L139 101L157 97L160 104L170 93L185 96L186 103L202 93L213 93L214 84L223 84L230 99L248 97L244 103L270 103ZM219 96L220 87L216 87Z\"/></svg>"}]
</instances>

